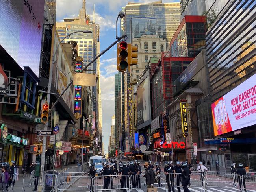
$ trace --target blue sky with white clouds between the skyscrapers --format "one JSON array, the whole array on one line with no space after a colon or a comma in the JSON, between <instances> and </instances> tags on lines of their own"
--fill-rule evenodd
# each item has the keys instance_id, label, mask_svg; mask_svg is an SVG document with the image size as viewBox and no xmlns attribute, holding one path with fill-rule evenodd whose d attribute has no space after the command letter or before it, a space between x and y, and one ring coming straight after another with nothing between
<instances>
[{"instance_id":1,"label":"blue sky with white clouds between the skyscrapers","mask_svg":"<svg viewBox=\"0 0 256 192\"><path fill-rule=\"evenodd\" d=\"M100 25L101 51L116 40L115 21L121 8L128 2L150 3L152 0L86 0L86 14L90 15L91 20L93 20L93 5L95 5L95 24ZM179 0L163 0L163 3L169 2L179 2ZM82 0L57 0L56 21L61 22L63 18L77 17L81 8ZM108 152L111 117L115 114L116 49L117 47L113 46L100 57L104 153Z\"/></svg>"}]
</instances>

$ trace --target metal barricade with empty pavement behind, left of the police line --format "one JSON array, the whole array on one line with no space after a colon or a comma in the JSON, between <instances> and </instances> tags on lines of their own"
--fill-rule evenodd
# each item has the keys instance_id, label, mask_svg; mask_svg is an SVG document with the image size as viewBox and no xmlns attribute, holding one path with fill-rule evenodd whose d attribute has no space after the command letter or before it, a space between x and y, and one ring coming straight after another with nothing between
<instances>
[{"instance_id":1,"label":"metal barricade with empty pavement behind, left of the police line","mask_svg":"<svg viewBox=\"0 0 256 192\"><path fill-rule=\"evenodd\" d=\"M56 192L63 191L92 191L93 190L93 178L88 176L70 176L67 179L65 176L57 176Z\"/></svg>"}]
</instances>

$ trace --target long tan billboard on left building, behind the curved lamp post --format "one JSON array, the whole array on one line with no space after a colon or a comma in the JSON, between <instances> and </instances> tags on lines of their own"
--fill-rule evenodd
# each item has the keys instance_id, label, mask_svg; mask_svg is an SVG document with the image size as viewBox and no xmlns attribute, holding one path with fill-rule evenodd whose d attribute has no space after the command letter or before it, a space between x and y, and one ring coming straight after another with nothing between
<instances>
[{"instance_id":1,"label":"long tan billboard on left building, behind the curved lamp post","mask_svg":"<svg viewBox=\"0 0 256 192\"><path fill-rule=\"evenodd\" d=\"M52 30L52 54L53 51L55 52L59 42L60 40L58 37L58 33L54 28L54 30ZM52 82L54 82L54 87L57 89L58 93L61 94L61 92L65 89L65 87L67 87L67 85L73 79L73 73L71 72L72 68L70 62L71 59L67 57L64 50L62 49L62 46L59 46L54 61L56 62L54 63L52 71ZM51 63L51 65L53 64ZM72 111L72 113L74 113L74 90L74 85L71 84L69 89L62 96L63 100L66 102L67 106Z\"/></svg>"}]
</instances>

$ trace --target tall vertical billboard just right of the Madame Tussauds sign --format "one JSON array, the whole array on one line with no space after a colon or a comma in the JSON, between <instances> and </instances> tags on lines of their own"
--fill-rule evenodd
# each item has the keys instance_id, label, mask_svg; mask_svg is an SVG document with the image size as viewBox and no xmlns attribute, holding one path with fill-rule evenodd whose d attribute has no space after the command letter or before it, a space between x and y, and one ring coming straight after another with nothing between
<instances>
[{"instance_id":1,"label":"tall vertical billboard just right of the Madame Tussauds sign","mask_svg":"<svg viewBox=\"0 0 256 192\"><path fill-rule=\"evenodd\" d=\"M141 129L151 124L149 71L137 84L137 126Z\"/></svg>"}]
</instances>

